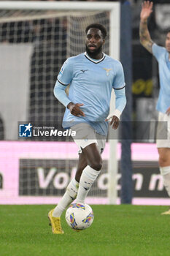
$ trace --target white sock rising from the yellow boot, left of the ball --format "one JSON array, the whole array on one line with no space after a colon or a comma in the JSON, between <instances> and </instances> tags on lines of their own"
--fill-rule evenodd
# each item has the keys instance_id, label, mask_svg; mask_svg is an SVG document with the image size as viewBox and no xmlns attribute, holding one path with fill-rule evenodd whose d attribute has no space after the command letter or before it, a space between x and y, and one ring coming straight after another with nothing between
<instances>
[{"instance_id":1,"label":"white sock rising from the yellow boot, left of the ball","mask_svg":"<svg viewBox=\"0 0 170 256\"><path fill-rule=\"evenodd\" d=\"M66 209L66 207L69 206L70 203L72 203L77 197L78 188L79 183L75 180L75 178L73 178L67 186L65 194L59 201L58 205L55 207L53 211L53 217L61 217L61 214Z\"/></svg>"}]
</instances>

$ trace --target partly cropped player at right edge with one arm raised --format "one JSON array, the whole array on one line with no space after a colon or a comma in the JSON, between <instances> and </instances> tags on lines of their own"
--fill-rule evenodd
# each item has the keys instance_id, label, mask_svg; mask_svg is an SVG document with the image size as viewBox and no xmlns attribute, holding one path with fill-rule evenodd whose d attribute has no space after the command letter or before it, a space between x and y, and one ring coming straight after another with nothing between
<instances>
[{"instance_id":1,"label":"partly cropped player at right edge with one arm raised","mask_svg":"<svg viewBox=\"0 0 170 256\"><path fill-rule=\"evenodd\" d=\"M157 138L156 143L163 183L170 196L170 29L166 34L165 48L152 42L150 33L147 29L147 18L150 17L152 12L152 5L152 2L150 1L144 1L142 4L139 34L140 42L144 48L155 56L159 65L161 88L156 109L158 110L159 123L161 123L161 121L167 121L168 123L168 138L167 140L159 140L159 138ZM159 124L158 129L161 129L161 125ZM161 130L158 130L158 132L161 132ZM170 209L163 214L170 214Z\"/></svg>"}]
</instances>

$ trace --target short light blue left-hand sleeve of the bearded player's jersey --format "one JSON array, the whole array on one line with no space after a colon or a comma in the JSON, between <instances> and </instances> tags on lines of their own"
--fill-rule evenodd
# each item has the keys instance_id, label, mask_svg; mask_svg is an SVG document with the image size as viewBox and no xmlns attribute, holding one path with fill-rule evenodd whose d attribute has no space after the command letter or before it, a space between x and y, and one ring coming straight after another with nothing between
<instances>
[{"instance_id":1,"label":"short light blue left-hand sleeve of the bearded player's jersey","mask_svg":"<svg viewBox=\"0 0 170 256\"><path fill-rule=\"evenodd\" d=\"M67 59L63 66L61 67L61 70L58 74L58 82L61 83L63 86L68 86L69 83L71 83L73 78L73 64L72 64L72 58Z\"/></svg>"}]
</instances>

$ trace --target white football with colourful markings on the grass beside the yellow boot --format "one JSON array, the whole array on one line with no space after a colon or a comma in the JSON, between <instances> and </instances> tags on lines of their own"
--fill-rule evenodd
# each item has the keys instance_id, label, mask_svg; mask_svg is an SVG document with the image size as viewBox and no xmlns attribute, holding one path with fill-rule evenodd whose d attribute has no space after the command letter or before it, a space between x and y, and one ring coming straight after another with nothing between
<instances>
[{"instance_id":1,"label":"white football with colourful markings on the grass beside the yellow boot","mask_svg":"<svg viewBox=\"0 0 170 256\"><path fill-rule=\"evenodd\" d=\"M66 210L66 222L74 230L85 230L92 225L93 210L87 203L72 203Z\"/></svg>"}]
</instances>

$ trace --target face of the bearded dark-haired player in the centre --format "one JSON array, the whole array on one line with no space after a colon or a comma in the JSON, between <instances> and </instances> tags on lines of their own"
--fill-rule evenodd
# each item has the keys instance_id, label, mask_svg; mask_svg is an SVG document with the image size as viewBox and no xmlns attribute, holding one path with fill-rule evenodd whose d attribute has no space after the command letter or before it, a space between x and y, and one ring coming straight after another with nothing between
<instances>
[{"instance_id":1,"label":"face of the bearded dark-haired player in the centre","mask_svg":"<svg viewBox=\"0 0 170 256\"><path fill-rule=\"evenodd\" d=\"M99 29L89 29L86 37L86 50L88 53L93 55L98 54L102 51L105 39Z\"/></svg>"}]
</instances>

